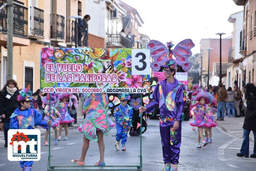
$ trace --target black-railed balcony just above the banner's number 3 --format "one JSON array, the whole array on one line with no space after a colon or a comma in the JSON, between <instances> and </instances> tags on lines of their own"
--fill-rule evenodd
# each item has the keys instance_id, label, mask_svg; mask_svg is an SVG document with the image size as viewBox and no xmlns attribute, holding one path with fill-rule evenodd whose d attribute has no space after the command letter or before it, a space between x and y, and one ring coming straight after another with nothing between
<instances>
[{"instance_id":1,"label":"black-railed balcony just above the banner's number 3","mask_svg":"<svg viewBox=\"0 0 256 171\"><path fill-rule=\"evenodd\" d=\"M108 34L107 48L132 48L132 42L119 34Z\"/></svg>"}]
</instances>

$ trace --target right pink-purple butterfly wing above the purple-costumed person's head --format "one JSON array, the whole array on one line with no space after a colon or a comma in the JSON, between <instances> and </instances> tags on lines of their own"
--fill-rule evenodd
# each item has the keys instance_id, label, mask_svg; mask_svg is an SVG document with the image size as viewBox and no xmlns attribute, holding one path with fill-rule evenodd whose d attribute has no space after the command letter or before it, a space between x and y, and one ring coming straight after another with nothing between
<instances>
[{"instance_id":1,"label":"right pink-purple butterfly wing above the purple-costumed person's head","mask_svg":"<svg viewBox=\"0 0 256 171\"><path fill-rule=\"evenodd\" d=\"M182 67L184 71L188 71L191 68L191 62L189 56L192 55L191 49L195 46L191 39L185 39L178 43L173 49L173 55L176 58L176 63Z\"/></svg>"}]
</instances>

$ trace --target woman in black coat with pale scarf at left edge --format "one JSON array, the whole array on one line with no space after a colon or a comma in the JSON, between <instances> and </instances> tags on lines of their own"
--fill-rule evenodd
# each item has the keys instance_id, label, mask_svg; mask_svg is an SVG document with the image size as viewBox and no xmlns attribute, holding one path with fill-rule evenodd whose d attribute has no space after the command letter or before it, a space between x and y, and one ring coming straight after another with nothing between
<instances>
[{"instance_id":1,"label":"woman in black coat with pale scarf at left edge","mask_svg":"<svg viewBox=\"0 0 256 171\"><path fill-rule=\"evenodd\" d=\"M20 107L20 103L17 101L18 95L19 88L17 82L13 79L7 80L0 93L0 115L2 116L5 139L4 148L7 148L10 116L17 107Z\"/></svg>"}]
</instances>

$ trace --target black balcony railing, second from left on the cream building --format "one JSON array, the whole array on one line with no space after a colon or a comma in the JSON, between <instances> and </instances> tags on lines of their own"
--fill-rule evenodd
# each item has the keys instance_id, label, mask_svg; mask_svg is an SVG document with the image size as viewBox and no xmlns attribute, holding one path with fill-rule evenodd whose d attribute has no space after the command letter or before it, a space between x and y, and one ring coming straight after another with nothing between
<instances>
[{"instance_id":1,"label":"black balcony railing, second from left on the cream building","mask_svg":"<svg viewBox=\"0 0 256 171\"><path fill-rule=\"evenodd\" d=\"M44 10L36 7L30 8L30 32L29 36L44 37Z\"/></svg>"}]
</instances>

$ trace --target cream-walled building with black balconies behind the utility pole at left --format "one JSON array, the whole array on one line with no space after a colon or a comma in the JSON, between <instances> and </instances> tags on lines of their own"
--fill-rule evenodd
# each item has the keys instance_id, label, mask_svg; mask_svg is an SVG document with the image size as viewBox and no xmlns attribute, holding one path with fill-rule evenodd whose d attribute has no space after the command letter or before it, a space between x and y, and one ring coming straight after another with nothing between
<instances>
[{"instance_id":1,"label":"cream-walled building with black balconies behind the utility pole at left","mask_svg":"<svg viewBox=\"0 0 256 171\"><path fill-rule=\"evenodd\" d=\"M0 4L3 3L7 0L0 0ZM13 78L18 87L30 84L33 92L40 88L42 47L74 47L75 21L70 16L77 15L78 9L85 9L84 0L14 0ZM6 20L4 7L0 16L1 87L6 82L8 58Z\"/></svg>"}]
</instances>

